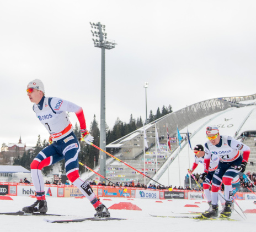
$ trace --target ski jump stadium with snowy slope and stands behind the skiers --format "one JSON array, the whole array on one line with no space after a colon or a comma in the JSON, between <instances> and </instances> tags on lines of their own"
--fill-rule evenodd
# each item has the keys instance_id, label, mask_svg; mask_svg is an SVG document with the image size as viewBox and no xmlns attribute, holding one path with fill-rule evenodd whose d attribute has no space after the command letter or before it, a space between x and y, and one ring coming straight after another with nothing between
<instances>
[{"instance_id":1,"label":"ski jump stadium with snowy slope and stands behind the skiers","mask_svg":"<svg viewBox=\"0 0 256 232\"><path fill-rule=\"evenodd\" d=\"M216 125L221 135L230 135L242 139L251 148L247 171L256 172L256 94L240 97L222 97L198 102L179 111L164 115L145 128L137 129L130 134L111 142L106 147L115 151L115 156L145 173L162 185L183 186L187 169L194 162L194 153L188 145L188 134L192 148L206 142L205 128ZM171 150L166 145L167 127L171 138ZM156 128L160 146L156 146ZM177 141L177 128L182 136ZM143 152L143 132L146 131L148 149ZM110 152L111 153L111 152ZM200 165L199 165L200 166ZM202 173L203 167L195 172ZM96 170L97 171L97 170ZM87 174L87 180L99 181L97 175ZM106 178L113 183L146 183L155 182L150 178L127 167L114 158L107 159Z\"/></svg>"}]
</instances>

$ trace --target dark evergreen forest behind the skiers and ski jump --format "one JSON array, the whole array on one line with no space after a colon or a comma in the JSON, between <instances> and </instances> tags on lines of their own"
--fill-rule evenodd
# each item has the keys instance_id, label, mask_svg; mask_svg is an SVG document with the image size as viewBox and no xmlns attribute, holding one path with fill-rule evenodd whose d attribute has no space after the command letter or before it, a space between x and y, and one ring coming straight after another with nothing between
<instances>
[{"instance_id":1,"label":"dark evergreen forest behind the skiers and ski jump","mask_svg":"<svg viewBox=\"0 0 256 232\"><path fill-rule=\"evenodd\" d=\"M151 123L158 118L163 117L166 114L172 113L172 106L169 107L163 106L160 110L159 107L157 108L156 114L153 114L150 111L150 115L148 115L148 123ZM99 129L98 122L96 116L94 115L92 123L90 123L90 134L94 137L93 143L99 147L99 138L100 138L100 129ZM130 115L130 120L128 123L121 121L119 118L116 119L113 129L109 129L108 125L106 125L106 144L109 144L115 140L120 139L121 137L130 134L132 131L137 130L143 126L142 118L134 118L132 114ZM76 123L73 129L74 134L77 136L78 140L81 138L80 127ZM89 168L94 169L94 163L97 166L99 164L99 150L94 148L93 146L88 145L86 142L79 141L81 146L81 151L78 154L78 160L81 161L83 164L86 164ZM40 135L38 136L38 141L36 142L35 150L34 151L24 151L22 156L18 156L14 159L13 165L22 165L22 167L30 170L30 163L36 157L36 155L45 147L48 146L48 142L44 140L41 141ZM111 150L109 148L106 149L107 152L113 153L115 150ZM108 158L108 156L106 157ZM60 161L61 172L65 173L65 159ZM79 171L84 172L86 168L80 166ZM42 173L47 175L51 173L53 170L52 165L47 166L42 169Z\"/></svg>"}]
</instances>

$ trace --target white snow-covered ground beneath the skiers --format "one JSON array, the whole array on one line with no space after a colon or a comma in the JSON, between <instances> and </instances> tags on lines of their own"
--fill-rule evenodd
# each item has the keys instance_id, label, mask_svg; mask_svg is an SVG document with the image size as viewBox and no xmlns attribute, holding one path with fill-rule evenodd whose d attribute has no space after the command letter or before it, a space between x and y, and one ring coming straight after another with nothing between
<instances>
[{"instance_id":1,"label":"white snow-covered ground beneath the skiers","mask_svg":"<svg viewBox=\"0 0 256 232\"><path fill-rule=\"evenodd\" d=\"M31 205L35 198L30 197L12 197L13 201L0 200L0 212L17 212L23 206ZM94 209L86 198L47 198L48 213L65 214L70 216L6 216L0 215L1 229L3 232L77 232L77 231L111 231L111 232L126 232L126 231L254 231L256 222L255 214L246 214L247 219L243 220L236 212L231 216L238 222L227 221L196 221L188 218L154 218L149 214L161 216L187 216L188 211L204 211L208 205L204 200L153 200L153 199L138 199L129 200L129 198L108 198L102 202L107 206L113 206L120 202L130 202L142 209L142 211L131 211L125 209L110 209L111 217L127 218L128 220L121 221L105 221L94 222L86 221L79 223L63 223L50 224L43 219L71 219L92 217ZM161 202L156 202L161 201ZM195 203L199 202L199 203ZM239 206L243 209L256 209L253 201L238 201ZM185 205L197 205L199 207L184 207ZM221 208L221 207L220 207ZM235 206L237 211L240 209ZM172 213L172 212L175 212ZM189 215L188 215L189 216Z\"/></svg>"}]
</instances>

